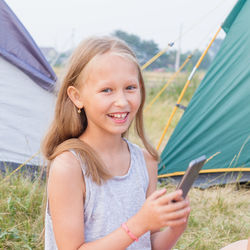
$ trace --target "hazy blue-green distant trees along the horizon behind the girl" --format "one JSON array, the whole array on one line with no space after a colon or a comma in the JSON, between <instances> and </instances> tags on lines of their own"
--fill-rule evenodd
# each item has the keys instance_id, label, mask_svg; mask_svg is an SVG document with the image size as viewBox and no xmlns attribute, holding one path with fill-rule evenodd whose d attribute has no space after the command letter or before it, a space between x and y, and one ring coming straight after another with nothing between
<instances>
[{"instance_id":1,"label":"hazy blue-green distant trees along the horizon behind the girl","mask_svg":"<svg viewBox=\"0 0 250 250\"><path fill-rule=\"evenodd\" d=\"M162 49L166 49L167 53L161 55L153 64L151 64L147 71L163 71L163 72L172 72L175 70L175 61L176 61L176 54L177 50L175 49L175 44L173 46L168 46L166 44L166 48L159 48L158 44L155 43L153 40L143 40L139 36L135 34L130 34L122 30L116 30L111 35L116 36L122 40L124 40L135 52L140 65L146 63L149 59L155 56L158 52ZM207 70L210 66L214 56L220 49L220 45L223 39L218 38L216 39L211 48L209 49L208 54L202 61L199 69L200 70ZM68 60L69 56L72 53L73 49L58 52L54 48L41 48L42 52L45 54L47 60L55 67L62 67ZM203 51L198 49L194 51L180 51L180 65L186 60L188 55L192 54L192 58L190 60L189 66L187 70L191 70L193 66L196 64L198 59L200 58Z\"/></svg>"}]
</instances>

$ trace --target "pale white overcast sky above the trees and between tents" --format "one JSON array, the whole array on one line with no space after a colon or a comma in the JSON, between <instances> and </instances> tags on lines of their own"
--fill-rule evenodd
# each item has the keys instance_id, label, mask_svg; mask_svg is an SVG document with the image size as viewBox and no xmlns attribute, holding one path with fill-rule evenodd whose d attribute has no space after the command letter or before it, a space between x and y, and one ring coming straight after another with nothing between
<instances>
[{"instance_id":1,"label":"pale white overcast sky above the trees and between tents","mask_svg":"<svg viewBox=\"0 0 250 250\"><path fill-rule=\"evenodd\" d=\"M5 0L38 46L62 52L123 30L160 49L203 50L237 0ZM219 38L223 38L221 31Z\"/></svg>"}]
</instances>

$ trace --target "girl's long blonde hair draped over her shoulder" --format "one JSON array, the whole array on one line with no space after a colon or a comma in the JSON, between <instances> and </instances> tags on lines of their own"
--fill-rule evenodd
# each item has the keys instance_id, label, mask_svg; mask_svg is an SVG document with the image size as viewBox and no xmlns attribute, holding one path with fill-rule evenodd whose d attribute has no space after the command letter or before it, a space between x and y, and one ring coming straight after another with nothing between
<instances>
[{"instance_id":1,"label":"girl's long blonde hair draped over her shoulder","mask_svg":"<svg viewBox=\"0 0 250 250\"><path fill-rule=\"evenodd\" d=\"M58 93L54 120L42 142L42 152L48 161L47 177L52 160L64 151L74 149L87 166L87 175L101 185L103 181L112 176L104 168L100 157L88 144L78 139L84 133L88 121L84 109L81 114L77 112L76 106L70 100L67 89L69 86L79 87L79 76L85 74L86 66L96 56L107 52L118 53L119 55L132 60L138 68L139 82L141 88L141 104L135 116L135 128L141 138L146 150L152 157L158 160L156 150L148 143L143 127L143 105L145 102L145 86L141 69L133 51L122 40L115 37L91 37L84 40L76 48L69 61L68 69L62 80ZM124 133L122 136L125 136Z\"/></svg>"}]
</instances>

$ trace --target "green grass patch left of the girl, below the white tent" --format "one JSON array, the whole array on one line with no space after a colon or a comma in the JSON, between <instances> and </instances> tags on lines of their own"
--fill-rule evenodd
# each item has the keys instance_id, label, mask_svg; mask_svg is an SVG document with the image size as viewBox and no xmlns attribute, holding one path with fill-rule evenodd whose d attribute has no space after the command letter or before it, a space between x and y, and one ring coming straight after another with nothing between
<instances>
[{"instance_id":1,"label":"green grass patch left of the girl, below the white tent","mask_svg":"<svg viewBox=\"0 0 250 250\"><path fill-rule=\"evenodd\" d=\"M45 183L15 174L0 176L0 249L43 249Z\"/></svg>"}]
</instances>

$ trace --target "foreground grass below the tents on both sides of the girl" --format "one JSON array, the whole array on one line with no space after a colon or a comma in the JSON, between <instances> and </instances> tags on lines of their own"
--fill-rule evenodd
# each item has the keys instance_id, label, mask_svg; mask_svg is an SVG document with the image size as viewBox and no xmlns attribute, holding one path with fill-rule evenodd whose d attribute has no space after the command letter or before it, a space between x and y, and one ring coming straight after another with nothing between
<instances>
[{"instance_id":1,"label":"foreground grass below the tents on both sides of the girl","mask_svg":"<svg viewBox=\"0 0 250 250\"><path fill-rule=\"evenodd\" d=\"M0 249L44 249L45 184L21 174L0 176ZM174 190L168 185L168 192ZM175 249L215 250L250 235L250 190L227 185L192 189L188 228Z\"/></svg>"}]
</instances>

